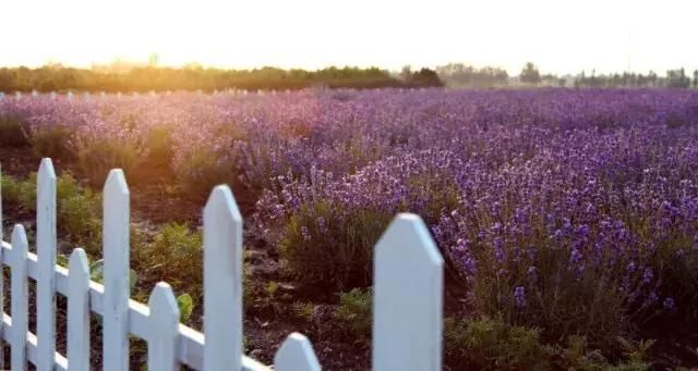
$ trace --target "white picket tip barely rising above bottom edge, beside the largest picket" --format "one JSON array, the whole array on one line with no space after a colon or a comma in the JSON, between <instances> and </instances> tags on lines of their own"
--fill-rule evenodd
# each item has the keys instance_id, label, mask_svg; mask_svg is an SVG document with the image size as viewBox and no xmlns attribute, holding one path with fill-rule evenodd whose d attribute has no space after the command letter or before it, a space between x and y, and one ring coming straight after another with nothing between
<instances>
[{"instance_id":1,"label":"white picket tip barely rising above bottom edge, beside the largest picket","mask_svg":"<svg viewBox=\"0 0 698 371\"><path fill-rule=\"evenodd\" d=\"M276 371L321 371L320 362L308 337L292 333L288 335L274 356Z\"/></svg>"}]
</instances>

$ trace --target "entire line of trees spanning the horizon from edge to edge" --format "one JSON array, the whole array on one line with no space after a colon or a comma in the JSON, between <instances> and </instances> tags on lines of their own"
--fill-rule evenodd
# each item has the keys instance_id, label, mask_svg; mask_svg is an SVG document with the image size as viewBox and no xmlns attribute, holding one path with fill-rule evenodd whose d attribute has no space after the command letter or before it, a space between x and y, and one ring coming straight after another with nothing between
<instances>
[{"instance_id":1,"label":"entire line of trees spanning the horizon from edge to edge","mask_svg":"<svg viewBox=\"0 0 698 371\"><path fill-rule=\"evenodd\" d=\"M543 74L528 62L518 75L510 76L496 66L476 67L449 63L435 70L412 71L406 66L400 73L378 67L327 67L317 71L262 67L254 70L204 69L190 65L180 69L156 65L135 65L128 69L74 69L49 64L38 69L0 69L0 91L164 91L224 89L301 89L308 87L438 87L491 88L510 86L554 86L575 88L698 88L698 70L666 71L663 76L650 71L642 73L597 74L594 70L577 75Z\"/></svg>"}]
</instances>

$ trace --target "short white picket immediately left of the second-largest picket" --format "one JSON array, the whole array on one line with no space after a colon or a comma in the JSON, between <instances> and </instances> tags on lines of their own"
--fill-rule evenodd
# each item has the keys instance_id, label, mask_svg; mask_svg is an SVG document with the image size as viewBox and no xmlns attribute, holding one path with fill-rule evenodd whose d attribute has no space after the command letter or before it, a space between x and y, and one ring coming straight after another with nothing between
<instances>
[{"instance_id":1,"label":"short white picket immediately left of the second-largest picket","mask_svg":"<svg viewBox=\"0 0 698 371\"><path fill-rule=\"evenodd\" d=\"M159 282L148 300L151 307L151 338L148 338L148 370L178 370L177 334L179 307L172 288Z\"/></svg>"}]
</instances>

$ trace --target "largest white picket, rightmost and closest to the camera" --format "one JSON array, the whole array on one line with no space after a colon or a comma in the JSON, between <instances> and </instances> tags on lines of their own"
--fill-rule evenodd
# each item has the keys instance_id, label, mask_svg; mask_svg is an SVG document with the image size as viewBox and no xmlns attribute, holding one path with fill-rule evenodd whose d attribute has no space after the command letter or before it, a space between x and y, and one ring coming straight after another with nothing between
<instances>
[{"instance_id":1,"label":"largest white picket, rightmost and closest to the camera","mask_svg":"<svg viewBox=\"0 0 698 371\"><path fill-rule=\"evenodd\" d=\"M375 247L374 370L441 370L443 265L421 218L398 214Z\"/></svg>"}]
</instances>

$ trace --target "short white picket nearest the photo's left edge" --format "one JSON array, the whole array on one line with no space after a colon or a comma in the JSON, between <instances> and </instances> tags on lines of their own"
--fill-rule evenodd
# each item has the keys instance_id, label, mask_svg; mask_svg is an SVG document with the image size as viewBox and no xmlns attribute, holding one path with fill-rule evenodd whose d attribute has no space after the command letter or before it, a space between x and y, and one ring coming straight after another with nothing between
<instances>
[{"instance_id":1,"label":"short white picket nearest the photo's left edge","mask_svg":"<svg viewBox=\"0 0 698 371\"><path fill-rule=\"evenodd\" d=\"M26 253L28 243L22 224L16 224L12 231L12 268L11 268L11 300L12 300L12 336L10 341L10 366L13 371L26 369L26 332L27 327L27 277Z\"/></svg>"}]
</instances>

